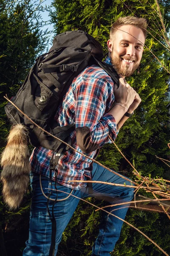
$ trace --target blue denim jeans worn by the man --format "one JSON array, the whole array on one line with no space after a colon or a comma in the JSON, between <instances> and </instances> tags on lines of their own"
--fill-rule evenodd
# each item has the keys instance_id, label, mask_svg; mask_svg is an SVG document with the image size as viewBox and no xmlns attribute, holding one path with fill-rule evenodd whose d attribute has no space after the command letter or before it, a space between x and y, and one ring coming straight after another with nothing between
<instances>
[{"instance_id":1,"label":"blue denim jeans worn by the man","mask_svg":"<svg viewBox=\"0 0 170 256\"><path fill-rule=\"evenodd\" d=\"M93 180L108 181L111 183L118 183L131 185L130 182L124 180L118 175L114 175L107 169L94 163L92 171ZM45 188L55 189L54 184L44 176L41 176L42 188L45 196L48 197L51 190ZM23 256L48 256L49 248L51 245L51 221L47 211L47 198L42 194L40 188L40 175L31 173L31 187L33 190L33 198L30 212L30 227L29 227L29 239L26 241L26 248L23 251ZM70 188L62 186L57 183L57 189L71 193ZM133 199L133 188L111 186L99 183L93 183L93 194L88 191L88 186L79 190L73 190L72 195L79 198L87 197L99 197L105 198L108 204L128 202ZM67 194L58 192L58 199L68 197ZM52 191L51 199L56 198L56 191ZM57 222L57 234L56 234L56 252L58 244L61 241L62 233L65 230L68 222L71 219L79 199L73 196L69 196L64 201L58 201L54 207L54 215ZM49 202L49 209L51 211L53 201ZM127 206L127 204L125 205ZM120 208L108 207L106 210L111 212L113 209ZM124 207L124 205L122 205ZM128 208L118 209L113 212L114 215L124 219ZM108 215L108 213L102 212L102 220L99 225L99 235L94 242L92 248L92 256L109 256L113 251L116 241L119 239L120 231L123 221L118 218Z\"/></svg>"}]
</instances>

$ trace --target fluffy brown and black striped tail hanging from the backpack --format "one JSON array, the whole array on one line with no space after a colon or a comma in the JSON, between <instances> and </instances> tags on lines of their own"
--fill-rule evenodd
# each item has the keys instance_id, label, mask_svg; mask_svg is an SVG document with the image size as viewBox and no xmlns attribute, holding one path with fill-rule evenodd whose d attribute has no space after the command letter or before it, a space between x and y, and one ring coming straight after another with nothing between
<instances>
[{"instance_id":1,"label":"fluffy brown and black striped tail hanging from the backpack","mask_svg":"<svg viewBox=\"0 0 170 256\"><path fill-rule=\"evenodd\" d=\"M10 209L16 209L23 200L31 170L27 129L21 124L13 126L7 140L1 156L3 171L0 178L4 201Z\"/></svg>"}]
</instances>

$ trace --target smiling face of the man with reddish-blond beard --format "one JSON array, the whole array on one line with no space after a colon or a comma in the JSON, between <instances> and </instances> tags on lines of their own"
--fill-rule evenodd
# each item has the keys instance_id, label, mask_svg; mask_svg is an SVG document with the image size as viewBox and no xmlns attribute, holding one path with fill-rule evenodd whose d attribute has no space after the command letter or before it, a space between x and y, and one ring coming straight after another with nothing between
<instances>
[{"instance_id":1,"label":"smiling face of the man with reddish-blond beard","mask_svg":"<svg viewBox=\"0 0 170 256\"><path fill-rule=\"evenodd\" d=\"M108 50L113 67L124 78L131 76L139 66L145 39L142 30L135 26L122 25L119 29L112 40L108 40Z\"/></svg>"}]
</instances>

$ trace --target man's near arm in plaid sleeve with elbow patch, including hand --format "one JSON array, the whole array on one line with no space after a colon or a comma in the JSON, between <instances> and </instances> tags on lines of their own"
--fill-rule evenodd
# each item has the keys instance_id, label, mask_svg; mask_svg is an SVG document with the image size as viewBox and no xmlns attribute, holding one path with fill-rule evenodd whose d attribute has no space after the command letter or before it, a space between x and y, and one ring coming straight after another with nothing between
<instances>
[{"instance_id":1,"label":"man's near arm in plaid sleeve with elbow patch, including hand","mask_svg":"<svg viewBox=\"0 0 170 256\"><path fill-rule=\"evenodd\" d=\"M112 92L111 92L112 90ZM116 104L108 113L114 100L113 82L102 78L93 78L82 81L76 90L76 137L79 148L89 154L91 151L102 147L105 143L111 143L108 135L113 140L117 136L117 124L122 126L127 118L124 114L133 105L136 91L129 84L122 84L120 79L119 88L115 87L114 95ZM111 102L112 101L112 102ZM110 104L110 107L108 106Z\"/></svg>"}]
</instances>

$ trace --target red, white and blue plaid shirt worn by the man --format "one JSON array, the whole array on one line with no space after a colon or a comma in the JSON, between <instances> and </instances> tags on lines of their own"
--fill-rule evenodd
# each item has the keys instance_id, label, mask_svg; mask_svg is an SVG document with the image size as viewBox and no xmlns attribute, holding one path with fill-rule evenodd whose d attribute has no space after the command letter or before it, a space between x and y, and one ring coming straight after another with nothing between
<instances>
[{"instance_id":1,"label":"red, white and blue plaid shirt worn by the man","mask_svg":"<svg viewBox=\"0 0 170 256\"><path fill-rule=\"evenodd\" d=\"M107 57L105 62L111 64ZM59 106L55 119L60 126L75 123L77 127L88 127L91 131L91 143L112 143L116 139L116 121L107 113L114 102L113 81L102 68L92 65L85 68L72 82L62 104ZM99 122L100 121L100 122ZM87 183L68 183L68 180L91 179L93 162L82 156L77 145L76 131L71 133L72 147L78 152L69 149L60 158L57 164L57 182L72 189L81 189ZM95 159L99 149L87 154ZM49 177L49 163L53 151L41 146L34 148L31 157L33 172ZM55 180L55 172L52 171L52 179Z\"/></svg>"}]
</instances>

